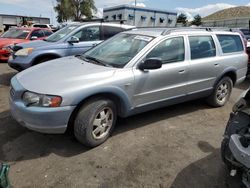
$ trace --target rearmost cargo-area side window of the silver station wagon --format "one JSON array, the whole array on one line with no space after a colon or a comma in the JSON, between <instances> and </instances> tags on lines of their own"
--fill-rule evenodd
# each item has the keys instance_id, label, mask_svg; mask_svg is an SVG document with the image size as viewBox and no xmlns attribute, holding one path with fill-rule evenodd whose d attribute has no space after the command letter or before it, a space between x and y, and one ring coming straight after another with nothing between
<instances>
[{"instance_id":1,"label":"rearmost cargo-area side window of the silver station wagon","mask_svg":"<svg viewBox=\"0 0 250 188\"><path fill-rule=\"evenodd\" d=\"M243 44L238 35L217 35L223 53L243 51Z\"/></svg>"}]
</instances>

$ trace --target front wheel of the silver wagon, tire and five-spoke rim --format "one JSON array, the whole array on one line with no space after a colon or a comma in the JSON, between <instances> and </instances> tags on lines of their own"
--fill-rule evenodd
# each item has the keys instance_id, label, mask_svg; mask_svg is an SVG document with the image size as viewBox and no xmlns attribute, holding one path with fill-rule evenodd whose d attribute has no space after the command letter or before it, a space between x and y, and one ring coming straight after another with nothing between
<instances>
[{"instance_id":1,"label":"front wheel of the silver wagon, tire and five-spoke rim","mask_svg":"<svg viewBox=\"0 0 250 188\"><path fill-rule=\"evenodd\" d=\"M117 110L113 101L95 98L79 110L74 121L76 139L87 147L104 143L114 129Z\"/></svg>"}]
</instances>

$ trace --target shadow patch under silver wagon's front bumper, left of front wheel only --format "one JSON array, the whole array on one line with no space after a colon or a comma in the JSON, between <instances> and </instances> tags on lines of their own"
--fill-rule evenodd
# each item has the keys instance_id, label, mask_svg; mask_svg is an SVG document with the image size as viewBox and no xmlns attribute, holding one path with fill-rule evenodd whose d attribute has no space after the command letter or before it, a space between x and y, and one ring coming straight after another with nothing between
<instances>
[{"instance_id":1,"label":"shadow patch under silver wagon's front bumper, left of front wheel only","mask_svg":"<svg viewBox=\"0 0 250 188\"><path fill-rule=\"evenodd\" d=\"M29 131L19 125L9 111L0 113L0 161L23 161L50 153L70 157L87 150L70 134L46 135Z\"/></svg>"}]
</instances>

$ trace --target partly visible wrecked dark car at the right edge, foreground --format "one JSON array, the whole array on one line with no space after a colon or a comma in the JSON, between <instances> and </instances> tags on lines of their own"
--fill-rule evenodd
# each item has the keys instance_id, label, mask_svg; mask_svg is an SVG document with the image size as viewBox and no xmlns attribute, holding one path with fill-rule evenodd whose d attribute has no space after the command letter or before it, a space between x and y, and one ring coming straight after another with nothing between
<instances>
[{"instance_id":1,"label":"partly visible wrecked dark car at the right edge, foreground","mask_svg":"<svg viewBox=\"0 0 250 188\"><path fill-rule=\"evenodd\" d=\"M224 138L221 142L221 156L231 176L242 176L242 182L250 187L250 90L233 107Z\"/></svg>"}]
</instances>

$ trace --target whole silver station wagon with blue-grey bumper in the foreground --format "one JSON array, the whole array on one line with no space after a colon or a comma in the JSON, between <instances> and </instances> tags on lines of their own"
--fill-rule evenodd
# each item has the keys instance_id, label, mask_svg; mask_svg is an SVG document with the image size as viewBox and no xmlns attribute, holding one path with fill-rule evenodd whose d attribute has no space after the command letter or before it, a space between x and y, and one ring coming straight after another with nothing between
<instances>
[{"instance_id":1,"label":"whole silver station wagon with blue-grey bumper in the foreground","mask_svg":"<svg viewBox=\"0 0 250 188\"><path fill-rule=\"evenodd\" d=\"M246 72L238 33L136 29L17 74L10 109L29 129L64 133L72 126L81 143L94 147L110 136L117 116L196 98L223 106Z\"/></svg>"}]
</instances>

